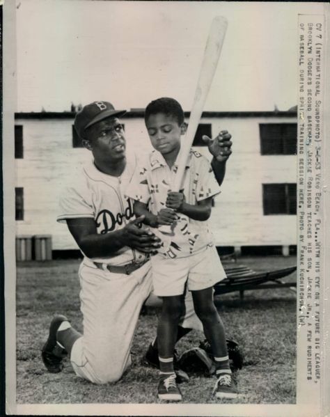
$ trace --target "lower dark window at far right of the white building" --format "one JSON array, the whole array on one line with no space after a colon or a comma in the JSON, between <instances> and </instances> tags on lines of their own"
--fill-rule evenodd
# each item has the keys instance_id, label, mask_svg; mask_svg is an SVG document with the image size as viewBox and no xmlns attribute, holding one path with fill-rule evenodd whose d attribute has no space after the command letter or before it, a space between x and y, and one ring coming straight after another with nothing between
<instances>
[{"instance_id":1,"label":"lower dark window at far right of the white building","mask_svg":"<svg viewBox=\"0 0 330 417\"><path fill-rule=\"evenodd\" d=\"M265 216L297 214L297 184L262 184Z\"/></svg>"}]
</instances>

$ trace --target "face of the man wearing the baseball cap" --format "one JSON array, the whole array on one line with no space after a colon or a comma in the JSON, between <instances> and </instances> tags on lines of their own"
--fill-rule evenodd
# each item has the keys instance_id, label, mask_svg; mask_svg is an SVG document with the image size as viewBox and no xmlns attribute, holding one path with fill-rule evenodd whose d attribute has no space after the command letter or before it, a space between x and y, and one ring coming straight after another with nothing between
<instances>
[{"instance_id":1,"label":"face of the man wearing the baseball cap","mask_svg":"<svg viewBox=\"0 0 330 417\"><path fill-rule=\"evenodd\" d=\"M95 162L116 162L125 158L125 134L118 118L107 118L88 127L86 138Z\"/></svg>"}]
</instances>

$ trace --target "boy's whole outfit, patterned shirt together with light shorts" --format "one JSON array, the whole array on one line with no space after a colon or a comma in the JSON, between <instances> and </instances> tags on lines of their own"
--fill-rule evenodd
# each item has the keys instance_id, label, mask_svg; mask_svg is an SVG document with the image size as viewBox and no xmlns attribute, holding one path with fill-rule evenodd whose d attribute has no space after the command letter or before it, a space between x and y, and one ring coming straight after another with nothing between
<instances>
[{"instance_id":1,"label":"boy's whole outfit, patterned shirt together with light shorts","mask_svg":"<svg viewBox=\"0 0 330 417\"><path fill-rule=\"evenodd\" d=\"M177 169L176 164L169 168L163 155L152 150L139 163L127 195L148 204L150 212L157 214L166 206ZM182 189L185 201L191 205L220 192L210 162L194 150L189 153ZM178 216L172 226L173 236L160 236L164 246L151 259L154 290L159 296L183 294L186 283L191 291L203 290L226 278L207 221L189 219L181 213Z\"/></svg>"}]
</instances>

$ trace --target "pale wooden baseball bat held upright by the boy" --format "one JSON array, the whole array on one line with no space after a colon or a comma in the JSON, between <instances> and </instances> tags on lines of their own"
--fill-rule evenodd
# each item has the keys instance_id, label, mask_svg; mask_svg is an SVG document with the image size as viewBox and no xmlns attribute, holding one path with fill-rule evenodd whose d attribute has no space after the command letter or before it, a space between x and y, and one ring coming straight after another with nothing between
<instances>
[{"instance_id":1,"label":"pale wooden baseball bat held upright by the boy","mask_svg":"<svg viewBox=\"0 0 330 417\"><path fill-rule=\"evenodd\" d=\"M184 168L187 164L190 148L194 141L199 121L201 120L207 94L210 91L215 70L217 69L227 26L228 21L226 17L217 16L212 20L210 33L205 45L205 52L196 86L194 102L191 107L189 125L184 139L181 142L181 150L177 161L178 171L175 173L173 184L171 184L172 191L180 191L184 176ZM161 226L159 230L162 233L172 233L171 226Z\"/></svg>"}]
</instances>

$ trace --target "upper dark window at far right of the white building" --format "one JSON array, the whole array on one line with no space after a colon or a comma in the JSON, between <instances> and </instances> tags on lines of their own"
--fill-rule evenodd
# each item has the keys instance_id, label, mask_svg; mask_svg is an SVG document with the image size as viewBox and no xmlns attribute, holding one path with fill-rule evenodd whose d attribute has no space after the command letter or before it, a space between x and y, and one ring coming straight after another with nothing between
<instances>
[{"instance_id":1,"label":"upper dark window at far right of the white building","mask_svg":"<svg viewBox=\"0 0 330 417\"><path fill-rule=\"evenodd\" d=\"M260 123L261 155L296 155L297 123Z\"/></svg>"}]
</instances>

